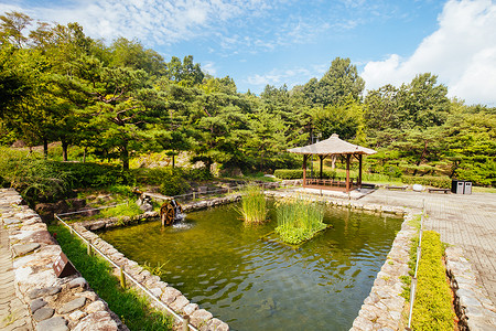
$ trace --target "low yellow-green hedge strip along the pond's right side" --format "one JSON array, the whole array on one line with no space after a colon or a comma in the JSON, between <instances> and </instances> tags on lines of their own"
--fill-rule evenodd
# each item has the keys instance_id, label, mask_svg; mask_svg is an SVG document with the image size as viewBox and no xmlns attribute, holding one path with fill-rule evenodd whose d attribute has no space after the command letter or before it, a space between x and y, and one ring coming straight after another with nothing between
<instances>
[{"instance_id":1,"label":"low yellow-green hedge strip along the pond's right side","mask_svg":"<svg viewBox=\"0 0 496 331\"><path fill-rule=\"evenodd\" d=\"M440 234L424 231L421 247L412 329L452 331L455 325L455 314L442 261L444 248Z\"/></svg>"}]
</instances>

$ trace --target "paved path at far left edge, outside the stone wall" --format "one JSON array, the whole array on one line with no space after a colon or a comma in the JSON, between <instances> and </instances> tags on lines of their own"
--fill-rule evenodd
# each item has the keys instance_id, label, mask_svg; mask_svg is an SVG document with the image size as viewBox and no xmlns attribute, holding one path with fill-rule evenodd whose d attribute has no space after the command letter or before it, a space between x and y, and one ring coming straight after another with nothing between
<instances>
[{"instance_id":1,"label":"paved path at far left edge, outside the stone wall","mask_svg":"<svg viewBox=\"0 0 496 331\"><path fill-rule=\"evenodd\" d=\"M15 293L9 234L0 224L0 330L33 330L31 313Z\"/></svg>"}]
</instances>

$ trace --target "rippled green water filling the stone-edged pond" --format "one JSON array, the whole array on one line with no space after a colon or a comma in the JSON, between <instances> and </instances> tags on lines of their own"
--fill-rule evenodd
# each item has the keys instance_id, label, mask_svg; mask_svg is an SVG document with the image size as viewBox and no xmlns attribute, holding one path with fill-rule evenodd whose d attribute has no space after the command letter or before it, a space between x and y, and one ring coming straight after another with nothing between
<instances>
[{"instance_id":1,"label":"rippled green water filling the stone-edged pond","mask_svg":"<svg viewBox=\"0 0 496 331\"><path fill-rule=\"evenodd\" d=\"M401 220L328 209L324 222L334 227L298 250L261 241L276 222L245 226L234 205L100 235L139 264L165 263L162 279L231 330L348 330Z\"/></svg>"}]
</instances>

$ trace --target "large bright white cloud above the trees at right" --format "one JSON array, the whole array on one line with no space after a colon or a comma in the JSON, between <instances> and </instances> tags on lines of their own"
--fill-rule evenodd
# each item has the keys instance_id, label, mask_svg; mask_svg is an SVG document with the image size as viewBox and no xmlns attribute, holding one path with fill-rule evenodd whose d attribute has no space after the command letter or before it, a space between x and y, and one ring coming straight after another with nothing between
<instances>
[{"instance_id":1,"label":"large bright white cloud above the trees at right","mask_svg":"<svg viewBox=\"0 0 496 331\"><path fill-rule=\"evenodd\" d=\"M430 72L445 84L449 96L467 104L496 105L496 3L450 0L438 18L439 29L407 58L397 54L365 65L367 89L409 83Z\"/></svg>"}]
</instances>

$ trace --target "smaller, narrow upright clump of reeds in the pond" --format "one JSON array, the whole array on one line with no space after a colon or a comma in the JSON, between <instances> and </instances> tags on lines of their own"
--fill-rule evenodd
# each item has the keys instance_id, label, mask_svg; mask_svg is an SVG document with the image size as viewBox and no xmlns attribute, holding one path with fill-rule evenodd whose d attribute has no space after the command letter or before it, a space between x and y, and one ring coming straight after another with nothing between
<instances>
[{"instance_id":1,"label":"smaller, narrow upright clump of reeds in the pond","mask_svg":"<svg viewBox=\"0 0 496 331\"><path fill-rule=\"evenodd\" d=\"M238 212L247 223L262 223L267 220L267 202L263 190L247 186L242 190L241 206Z\"/></svg>"}]
</instances>

